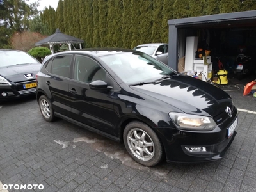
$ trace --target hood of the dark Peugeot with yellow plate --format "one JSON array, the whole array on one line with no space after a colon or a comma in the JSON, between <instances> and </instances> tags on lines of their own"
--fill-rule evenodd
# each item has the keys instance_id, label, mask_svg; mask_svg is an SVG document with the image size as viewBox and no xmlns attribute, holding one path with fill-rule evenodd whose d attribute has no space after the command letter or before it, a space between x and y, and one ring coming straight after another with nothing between
<instances>
[{"instance_id":1,"label":"hood of the dark Peugeot with yellow plate","mask_svg":"<svg viewBox=\"0 0 256 192\"><path fill-rule=\"evenodd\" d=\"M1 67L0 76L3 76L4 78L13 82L28 81L29 79L27 79L24 75L33 74L34 77L31 79L35 79L36 73L40 70L40 67L41 67L40 63Z\"/></svg>"}]
</instances>

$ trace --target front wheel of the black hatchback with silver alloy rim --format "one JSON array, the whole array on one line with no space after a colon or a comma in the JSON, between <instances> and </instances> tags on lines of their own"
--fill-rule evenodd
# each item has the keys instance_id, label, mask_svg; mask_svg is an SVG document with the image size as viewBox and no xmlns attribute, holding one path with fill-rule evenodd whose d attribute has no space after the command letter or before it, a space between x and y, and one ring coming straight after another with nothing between
<instances>
[{"instance_id":1,"label":"front wheel of the black hatchback with silver alloy rim","mask_svg":"<svg viewBox=\"0 0 256 192\"><path fill-rule=\"evenodd\" d=\"M156 166L163 157L159 138L148 125L131 122L124 129L124 145L129 155L144 166Z\"/></svg>"}]
</instances>

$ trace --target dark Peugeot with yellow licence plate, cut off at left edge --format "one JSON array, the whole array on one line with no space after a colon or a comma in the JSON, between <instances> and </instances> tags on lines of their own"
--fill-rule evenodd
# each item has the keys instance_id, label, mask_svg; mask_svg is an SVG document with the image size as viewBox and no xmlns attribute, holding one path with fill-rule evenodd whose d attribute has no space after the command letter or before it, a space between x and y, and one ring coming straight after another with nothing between
<instances>
[{"instance_id":1,"label":"dark Peugeot with yellow licence plate, cut off at left edge","mask_svg":"<svg viewBox=\"0 0 256 192\"><path fill-rule=\"evenodd\" d=\"M0 49L0 100L35 95L41 63L26 52Z\"/></svg>"}]
</instances>

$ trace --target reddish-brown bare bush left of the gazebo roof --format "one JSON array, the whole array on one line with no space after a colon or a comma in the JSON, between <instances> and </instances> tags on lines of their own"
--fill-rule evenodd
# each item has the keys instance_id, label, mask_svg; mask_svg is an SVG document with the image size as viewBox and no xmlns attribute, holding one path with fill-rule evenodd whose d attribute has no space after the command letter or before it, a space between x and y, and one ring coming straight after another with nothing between
<instances>
[{"instance_id":1,"label":"reddish-brown bare bush left of the gazebo roof","mask_svg":"<svg viewBox=\"0 0 256 192\"><path fill-rule=\"evenodd\" d=\"M47 36L40 33L24 31L23 33L15 33L12 35L10 42L13 49L28 52L29 49L35 47L35 43L46 38Z\"/></svg>"}]
</instances>

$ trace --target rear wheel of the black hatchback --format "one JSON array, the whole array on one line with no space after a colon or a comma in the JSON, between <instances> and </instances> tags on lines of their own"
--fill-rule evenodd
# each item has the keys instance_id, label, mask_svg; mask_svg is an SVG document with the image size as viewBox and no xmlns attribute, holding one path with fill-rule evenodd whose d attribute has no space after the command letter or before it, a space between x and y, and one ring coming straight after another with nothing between
<instances>
[{"instance_id":1,"label":"rear wheel of the black hatchback","mask_svg":"<svg viewBox=\"0 0 256 192\"><path fill-rule=\"evenodd\" d=\"M39 108L42 116L47 122L54 121L55 116L54 116L54 111L52 109L52 104L45 95L42 95L39 98Z\"/></svg>"}]
</instances>

